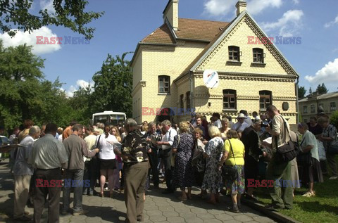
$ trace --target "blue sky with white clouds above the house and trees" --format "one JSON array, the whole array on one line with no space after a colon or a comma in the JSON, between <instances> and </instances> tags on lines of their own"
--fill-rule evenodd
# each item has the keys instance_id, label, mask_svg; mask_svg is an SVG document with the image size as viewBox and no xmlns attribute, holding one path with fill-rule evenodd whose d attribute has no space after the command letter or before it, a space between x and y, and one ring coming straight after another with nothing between
<instances>
[{"instance_id":1,"label":"blue sky with white clouds above the house and trees","mask_svg":"<svg viewBox=\"0 0 338 223\"><path fill-rule=\"evenodd\" d=\"M32 11L52 10L51 0L34 1ZM235 17L237 0L180 0L180 18L220 20ZM89 44L67 44L65 36L82 37L64 27L42 27L32 34L18 33L10 39L0 34L5 46L32 44L45 60L46 79L59 77L69 96L79 86L92 82L108 53L134 51L137 42L163 24L162 12L168 0L89 0L87 11L105 11L98 20ZM248 11L269 37L301 37L301 44L277 45L300 75L300 86L325 83L338 91L338 1L337 0L247 0ZM63 37L61 45L36 44L36 36ZM132 58L132 53L127 57Z\"/></svg>"}]
</instances>

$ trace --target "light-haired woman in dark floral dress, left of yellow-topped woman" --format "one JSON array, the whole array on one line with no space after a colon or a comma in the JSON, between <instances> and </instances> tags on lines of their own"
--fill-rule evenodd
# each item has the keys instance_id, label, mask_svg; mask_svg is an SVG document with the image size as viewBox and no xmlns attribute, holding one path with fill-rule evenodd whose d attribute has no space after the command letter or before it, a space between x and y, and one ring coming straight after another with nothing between
<instances>
[{"instance_id":1,"label":"light-haired woman in dark floral dress, left of yellow-topped woman","mask_svg":"<svg viewBox=\"0 0 338 223\"><path fill-rule=\"evenodd\" d=\"M220 161L223 151L223 139L220 138L220 130L218 127L212 126L208 129L211 140L206 144L204 156L206 157L206 172L202 184L202 191L210 191L211 196L208 203L215 204L219 202L220 184L222 184L222 176L217 171L217 165Z\"/></svg>"}]
</instances>

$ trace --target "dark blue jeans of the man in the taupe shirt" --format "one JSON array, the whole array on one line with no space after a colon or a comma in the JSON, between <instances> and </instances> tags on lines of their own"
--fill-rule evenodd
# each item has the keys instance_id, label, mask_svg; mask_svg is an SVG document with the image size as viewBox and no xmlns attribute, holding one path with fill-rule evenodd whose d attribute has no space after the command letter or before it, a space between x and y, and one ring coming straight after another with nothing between
<instances>
[{"instance_id":1,"label":"dark blue jeans of the man in the taupe shirt","mask_svg":"<svg viewBox=\"0 0 338 223\"><path fill-rule=\"evenodd\" d=\"M69 209L70 188L74 189L75 212L82 210L83 170L65 170L65 186L63 188L63 210ZM74 180L72 182L72 180ZM72 184L73 183L73 184Z\"/></svg>"}]
</instances>

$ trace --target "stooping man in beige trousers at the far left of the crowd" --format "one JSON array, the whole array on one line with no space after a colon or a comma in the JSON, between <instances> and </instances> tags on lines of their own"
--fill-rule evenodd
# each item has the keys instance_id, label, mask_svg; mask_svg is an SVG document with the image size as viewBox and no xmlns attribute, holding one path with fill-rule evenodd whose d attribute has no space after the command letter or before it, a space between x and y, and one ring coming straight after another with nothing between
<instances>
[{"instance_id":1,"label":"stooping man in beige trousers at the far left of the crowd","mask_svg":"<svg viewBox=\"0 0 338 223\"><path fill-rule=\"evenodd\" d=\"M32 153L34 140L39 138L40 128L38 126L30 127L28 135L25 136L21 145L15 153L15 163L13 167L14 174L14 211L13 217L16 221L27 222L30 217L25 215L25 205L28 200L28 191L30 191L30 179L33 174L32 165L27 163Z\"/></svg>"}]
</instances>

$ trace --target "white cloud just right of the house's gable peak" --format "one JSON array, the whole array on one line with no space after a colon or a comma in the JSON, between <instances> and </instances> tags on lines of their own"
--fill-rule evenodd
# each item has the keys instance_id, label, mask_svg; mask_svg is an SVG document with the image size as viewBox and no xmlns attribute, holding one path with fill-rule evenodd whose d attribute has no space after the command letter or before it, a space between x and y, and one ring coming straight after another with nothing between
<instances>
[{"instance_id":1,"label":"white cloud just right of the house's gable peak","mask_svg":"<svg viewBox=\"0 0 338 223\"><path fill-rule=\"evenodd\" d=\"M289 10L277 22L261 23L261 27L265 32L278 30L279 35L292 37L299 31L303 15L301 10Z\"/></svg>"}]
</instances>

